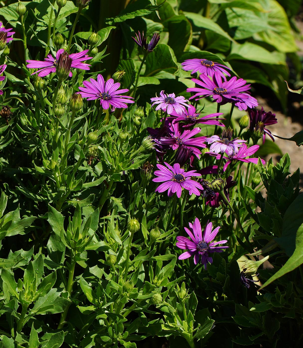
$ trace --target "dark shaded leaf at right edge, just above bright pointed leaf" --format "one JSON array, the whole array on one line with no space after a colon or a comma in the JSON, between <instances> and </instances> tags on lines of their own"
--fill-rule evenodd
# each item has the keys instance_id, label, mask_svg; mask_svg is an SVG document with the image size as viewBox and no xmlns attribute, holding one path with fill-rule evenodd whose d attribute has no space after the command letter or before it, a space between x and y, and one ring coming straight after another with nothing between
<instances>
[{"instance_id":1,"label":"dark shaded leaf at right edge, just above bright pointed leaf","mask_svg":"<svg viewBox=\"0 0 303 348\"><path fill-rule=\"evenodd\" d=\"M296 247L296 234L298 228L303 224L303 195L297 198L287 208L282 225L282 235L275 238L281 248L283 248L288 256L294 253ZM303 246L303 245L302 245Z\"/></svg>"}]
</instances>

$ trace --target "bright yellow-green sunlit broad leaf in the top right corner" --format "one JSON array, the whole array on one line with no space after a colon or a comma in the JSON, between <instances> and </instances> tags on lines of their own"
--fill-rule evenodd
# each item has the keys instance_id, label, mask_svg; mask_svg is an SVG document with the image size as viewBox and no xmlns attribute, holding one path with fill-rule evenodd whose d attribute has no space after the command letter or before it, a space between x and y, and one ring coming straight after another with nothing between
<instances>
[{"instance_id":1,"label":"bright yellow-green sunlit broad leaf in the top right corner","mask_svg":"<svg viewBox=\"0 0 303 348\"><path fill-rule=\"evenodd\" d=\"M276 0L267 0L264 5L270 29L255 34L253 38L274 46L280 52L296 52L298 48L283 7Z\"/></svg>"}]
</instances>

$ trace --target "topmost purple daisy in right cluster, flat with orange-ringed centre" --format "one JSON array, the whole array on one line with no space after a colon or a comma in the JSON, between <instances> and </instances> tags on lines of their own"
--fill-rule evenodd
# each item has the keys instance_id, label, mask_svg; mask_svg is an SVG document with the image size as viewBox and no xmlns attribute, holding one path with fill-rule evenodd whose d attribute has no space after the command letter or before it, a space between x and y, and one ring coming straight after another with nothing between
<instances>
[{"instance_id":1,"label":"topmost purple daisy in right cluster, flat with orange-ringed centre","mask_svg":"<svg viewBox=\"0 0 303 348\"><path fill-rule=\"evenodd\" d=\"M217 72L221 77L226 80L225 75L230 76L230 73L225 69L230 70L227 66L216 62L209 61L207 59L187 59L181 63L182 69L185 71L191 71L191 74L199 72L207 76L213 77L214 73Z\"/></svg>"}]
</instances>

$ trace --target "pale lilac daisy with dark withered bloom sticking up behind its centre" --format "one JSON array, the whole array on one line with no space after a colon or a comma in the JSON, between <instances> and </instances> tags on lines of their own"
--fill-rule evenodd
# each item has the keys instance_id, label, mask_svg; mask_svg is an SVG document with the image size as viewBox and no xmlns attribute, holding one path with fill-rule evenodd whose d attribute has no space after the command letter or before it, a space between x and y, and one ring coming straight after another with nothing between
<instances>
[{"instance_id":1,"label":"pale lilac daisy with dark withered bloom sticking up behind its centre","mask_svg":"<svg viewBox=\"0 0 303 348\"><path fill-rule=\"evenodd\" d=\"M237 153L238 148L242 146L242 143L246 143L246 140L238 140L238 138L232 140L232 134L232 130L228 128L223 130L221 137L212 135L206 138L206 142L211 144L210 151L214 153L226 152L228 156Z\"/></svg>"}]
</instances>

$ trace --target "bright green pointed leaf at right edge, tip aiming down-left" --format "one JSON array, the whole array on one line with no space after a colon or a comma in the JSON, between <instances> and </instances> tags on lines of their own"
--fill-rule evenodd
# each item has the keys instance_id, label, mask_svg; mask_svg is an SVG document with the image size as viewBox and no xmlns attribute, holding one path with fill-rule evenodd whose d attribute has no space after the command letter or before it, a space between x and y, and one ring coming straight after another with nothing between
<instances>
[{"instance_id":1,"label":"bright green pointed leaf at right edge, tip aiming down-left","mask_svg":"<svg viewBox=\"0 0 303 348\"><path fill-rule=\"evenodd\" d=\"M302 206L301 206L301 209L302 209ZM286 273L299 267L302 263L303 263L303 223L297 230L296 248L293 255L290 256L290 258L286 261L286 263L282 266L282 268L280 268L272 277L270 277L267 280L267 282L265 282L263 286L260 287L260 289L263 289L265 286L272 283L274 280L282 277Z\"/></svg>"}]
</instances>

